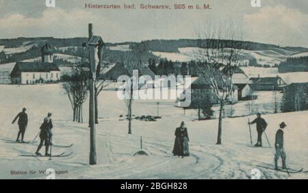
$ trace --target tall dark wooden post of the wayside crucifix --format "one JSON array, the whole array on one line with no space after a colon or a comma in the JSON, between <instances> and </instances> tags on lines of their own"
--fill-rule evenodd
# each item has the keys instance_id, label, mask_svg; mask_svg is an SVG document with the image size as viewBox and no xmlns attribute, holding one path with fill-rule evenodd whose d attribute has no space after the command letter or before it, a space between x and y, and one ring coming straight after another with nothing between
<instances>
[{"instance_id":1,"label":"tall dark wooden post of the wayside crucifix","mask_svg":"<svg viewBox=\"0 0 308 193\"><path fill-rule=\"evenodd\" d=\"M92 23L89 23L89 41L90 38L93 36L93 26ZM93 60L91 58L94 58L94 47L89 47L89 56L90 56L90 66L92 65ZM94 107L94 80L96 78L95 70L90 67L90 80L89 80L89 86L90 86L90 165L97 164L97 152L96 152L96 146L95 146L95 107Z\"/></svg>"}]
</instances>

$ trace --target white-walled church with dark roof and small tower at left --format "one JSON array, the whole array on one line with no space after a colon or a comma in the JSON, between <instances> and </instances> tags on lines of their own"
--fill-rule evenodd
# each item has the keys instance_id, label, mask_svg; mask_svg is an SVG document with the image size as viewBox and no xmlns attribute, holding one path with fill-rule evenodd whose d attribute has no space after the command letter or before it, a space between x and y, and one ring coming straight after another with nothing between
<instances>
[{"instance_id":1,"label":"white-walled church with dark roof and small tower at left","mask_svg":"<svg viewBox=\"0 0 308 193\"><path fill-rule=\"evenodd\" d=\"M41 62L16 62L10 73L13 84L32 84L60 81L60 69L53 63L53 47L44 44Z\"/></svg>"}]
</instances>

